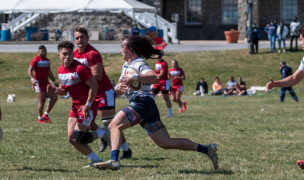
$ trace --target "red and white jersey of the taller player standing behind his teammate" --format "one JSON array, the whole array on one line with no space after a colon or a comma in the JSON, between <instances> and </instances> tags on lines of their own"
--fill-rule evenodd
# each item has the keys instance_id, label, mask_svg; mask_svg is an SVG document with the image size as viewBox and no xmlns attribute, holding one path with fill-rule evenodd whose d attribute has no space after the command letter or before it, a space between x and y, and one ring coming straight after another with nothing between
<instances>
[{"instance_id":1,"label":"red and white jersey of the taller player standing behind his teammate","mask_svg":"<svg viewBox=\"0 0 304 180\"><path fill-rule=\"evenodd\" d=\"M77 48L74 51L74 59L86 65L88 68L91 68L91 66L94 66L95 64L102 63L100 53L90 44L88 44L87 48L82 53L79 53ZM109 87L112 87L112 84L109 80L109 77L106 75L104 68L102 79L97 83L99 85L97 95L101 92L104 92L105 90L108 90Z\"/></svg>"}]
</instances>

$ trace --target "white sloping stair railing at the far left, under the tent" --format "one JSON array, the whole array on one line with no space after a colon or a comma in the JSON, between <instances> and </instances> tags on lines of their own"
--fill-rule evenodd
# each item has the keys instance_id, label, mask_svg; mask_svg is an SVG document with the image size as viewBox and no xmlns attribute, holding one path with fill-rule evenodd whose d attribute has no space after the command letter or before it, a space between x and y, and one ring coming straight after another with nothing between
<instances>
[{"instance_id":1,"label":"white sloping stair railing at the far left, under the tent","mask_svg":"<svg viewBox=\"0 0 304 180\"><path fill-rule=\"evenodd\" d=\"M15 34L21 28L30 23L35 23L35 20L40 17L40 13L23 13L13 19L9 23L1 23L2 29L10 29L11 34Z\"/></svg>"}]
</instances>

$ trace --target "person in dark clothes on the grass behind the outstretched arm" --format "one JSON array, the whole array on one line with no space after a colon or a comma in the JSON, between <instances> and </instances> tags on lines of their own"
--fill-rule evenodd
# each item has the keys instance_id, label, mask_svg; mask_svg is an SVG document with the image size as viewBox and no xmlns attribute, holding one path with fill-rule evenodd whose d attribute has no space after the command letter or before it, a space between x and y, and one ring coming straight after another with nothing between
<instances>
[{"instance_id":1,"label":"person in dark clothes on the grass behind the outstretched arm","mask_svg":"<svg viewBox=\"0 0 304 180\"><path fill-rule=\"evenodd\" d=\"M288 76L292 75L292 69L290 66L288 66L286 64L285 61L282 61L280 63L281 68L280 68L280 73L282 74L282 79L287 78ZM298 102L298 98L295 94L295 92L292 90L292 86L290 87L281 87L281 95L280 95L280 102L284 102L284 98L285 98L285 93L286 93L286 89L288 90L289 94L291 95L291 97Z\"/></svg>"}]
</instances>

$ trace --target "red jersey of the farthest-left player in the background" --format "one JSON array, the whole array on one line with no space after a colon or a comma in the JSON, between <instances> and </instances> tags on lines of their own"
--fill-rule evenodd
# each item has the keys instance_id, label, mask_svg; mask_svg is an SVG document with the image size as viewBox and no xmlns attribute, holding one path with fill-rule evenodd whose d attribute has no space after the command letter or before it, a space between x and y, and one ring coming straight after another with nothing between
<instances>
[{"instance_id":1,"label":"red jersey of the farthest-left player in the background","mask_svg":"<svg viewBox=\"0 0 304 180\"><path fill-rule=\"evenodd\" d=\"M36 56L31 64L34 67L34 78L36 80L48 80L51 61L48 58Z\"/></svg>"}]
</instances>

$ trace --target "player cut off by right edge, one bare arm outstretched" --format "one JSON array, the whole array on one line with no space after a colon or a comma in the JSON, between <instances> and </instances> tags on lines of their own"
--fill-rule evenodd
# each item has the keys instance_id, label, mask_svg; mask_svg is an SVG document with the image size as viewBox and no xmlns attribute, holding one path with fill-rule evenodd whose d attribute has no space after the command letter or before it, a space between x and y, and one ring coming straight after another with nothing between
<instances>
[{"instance_id":1,"label":"player cut off by right edge, one bare arm outstretched","mask_svg":"<svg viewBox=\"0 0 304 180\"><path fill-rule=\"evenodd\" d=\"M302 25L299 28L299 34L300 34L300 40L301 40L301 46L304 49L304 25ZM270 78L270 82L266 84L266 90L265 92L268 92L269 90L273 89L274 87L291 87L294 85L299 84L299 82L304 78L304 57L301 61L301 64L298 68L298 70L291 76L288 76L285 79L281 79L278 81L273 81L272 78ZM299 168L304 169L304 161L298 160L297 165Z\"/></svg>"}]
</instances>

